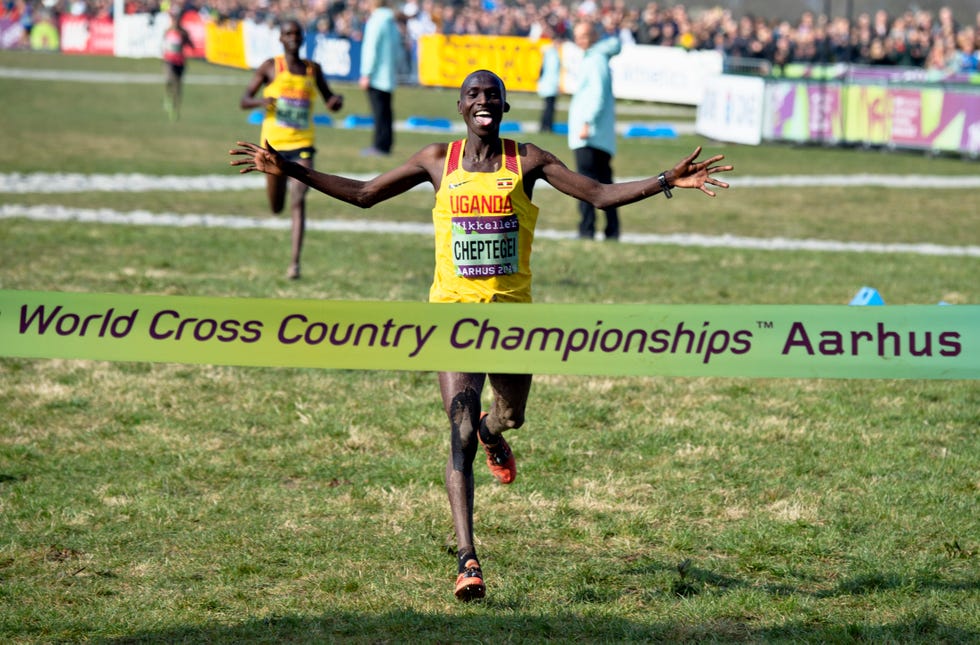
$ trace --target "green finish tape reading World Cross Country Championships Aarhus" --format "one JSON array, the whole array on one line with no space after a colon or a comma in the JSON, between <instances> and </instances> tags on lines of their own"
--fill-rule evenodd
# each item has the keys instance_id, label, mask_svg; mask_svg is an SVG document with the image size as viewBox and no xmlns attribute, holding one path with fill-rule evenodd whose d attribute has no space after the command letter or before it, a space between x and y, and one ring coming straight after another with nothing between
<instances>
[{"instance_id":1,"label":"green finish tape reading World Cross Country Championships Aarhus","mask_svg":"<svg viewBox=\"0 0 980 645\"><path fill-rule=\"evenodd\" d=\"M359 370L980 378L980 306L428 304L0 291L0 356Z\"/></svg>"}]
</instances>

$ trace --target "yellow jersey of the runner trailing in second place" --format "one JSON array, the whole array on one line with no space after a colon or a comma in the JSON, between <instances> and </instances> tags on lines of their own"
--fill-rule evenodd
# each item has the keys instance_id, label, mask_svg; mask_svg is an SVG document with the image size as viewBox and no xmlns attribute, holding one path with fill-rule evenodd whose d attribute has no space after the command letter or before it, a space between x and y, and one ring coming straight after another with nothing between
<instances>
[{"instance_id":1,"label":"yellow jersey of the runner trailing in second place","mask_svg":"<svg viewBox=\"0 0 980 645\"><path fill-rule=\"evenodd\" d=\"M262 96L276 99L267 107L262 121L262 142L277 150L296 150L313 145L313 97L317 92L312 63L306 61L306 73L293 74L284 56L276 56L276 75Z\"/></svg>"}]
</instances>

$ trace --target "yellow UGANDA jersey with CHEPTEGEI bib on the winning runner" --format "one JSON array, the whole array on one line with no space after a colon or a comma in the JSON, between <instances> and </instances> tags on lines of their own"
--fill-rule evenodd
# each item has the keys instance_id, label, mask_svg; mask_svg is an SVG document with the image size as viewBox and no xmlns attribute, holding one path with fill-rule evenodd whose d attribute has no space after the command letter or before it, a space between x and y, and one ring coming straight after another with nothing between
<instances>
[{"instance_id":1,"label":"yellow UGANDA jersey with CHEPTEGEI bib on the winning runner","mask_svg":"<svg viewBox=\"0 0 980 645\"><path fill-rule=\"evenodd\" d=\"M496 172L464 170L464 144L449 144L432 209L436 266L429 302L531 302L538 207L524 192L517 143L502 140Z\"/></svg>"}]
</instances>

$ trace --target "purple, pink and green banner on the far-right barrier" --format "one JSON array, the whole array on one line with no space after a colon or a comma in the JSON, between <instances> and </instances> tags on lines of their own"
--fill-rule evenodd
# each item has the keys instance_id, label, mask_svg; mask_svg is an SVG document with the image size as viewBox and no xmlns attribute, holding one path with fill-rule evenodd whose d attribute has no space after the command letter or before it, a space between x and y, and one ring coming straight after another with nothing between
<instances>
[{"instance_id":1,"label":"purple, pink and green banner on the far-right barrier","mask_svg":"<svg viewBox=\"0 0 980 645\"><path fill-rule=\"evenodd\" d=\"M980 92L774 82L763 136L980 153Z\"/></svg>"}]
</instances>

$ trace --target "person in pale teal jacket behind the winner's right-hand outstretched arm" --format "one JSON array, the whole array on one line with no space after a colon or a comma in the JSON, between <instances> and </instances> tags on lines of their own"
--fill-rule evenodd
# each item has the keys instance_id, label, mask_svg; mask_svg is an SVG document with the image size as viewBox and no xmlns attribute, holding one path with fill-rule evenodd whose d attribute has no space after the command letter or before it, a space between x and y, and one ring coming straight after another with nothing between
<instances>
[{"instance_id":1,"label":"person in pale teal jacket behind the winner's right-hand outstretched arm","mask_svg":"<svg viewBox=\"0 0 980 645\"><path fill-rule=\"evenodd\" d=\"M616 100L612 93L609 59L619 53L618 38L599 40L595 24L585 20L572 32L585 55L578 69L578 87L568 107L568 147L575 153L578 172L602 184L611 184L612 158L616 154ZM619 239L619 211L609 208L605 239ZM579 237L595 237L595 207L579 202Z\"/></svg>"}]
</instances>

